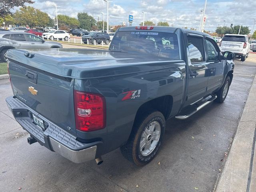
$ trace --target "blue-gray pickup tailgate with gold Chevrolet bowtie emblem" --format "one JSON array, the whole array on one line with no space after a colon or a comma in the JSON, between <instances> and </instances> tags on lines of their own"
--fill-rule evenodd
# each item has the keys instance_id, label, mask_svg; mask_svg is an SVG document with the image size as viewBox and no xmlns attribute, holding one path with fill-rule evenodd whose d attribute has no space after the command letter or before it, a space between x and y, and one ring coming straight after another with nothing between
<instances>
[{"instance_id":1,"label":"blue-gray pickup tailgate with gold Chevrolet bowtie emblem","mask_svg":"<svg viewBox=\"0 0 256 192\"><path fill-rule=\"evenodd\" d=\"M64 130L76 134L74 79L47 74L15 60L9 61L9 71L14 96Z\"/></svg>"}]
</instances>

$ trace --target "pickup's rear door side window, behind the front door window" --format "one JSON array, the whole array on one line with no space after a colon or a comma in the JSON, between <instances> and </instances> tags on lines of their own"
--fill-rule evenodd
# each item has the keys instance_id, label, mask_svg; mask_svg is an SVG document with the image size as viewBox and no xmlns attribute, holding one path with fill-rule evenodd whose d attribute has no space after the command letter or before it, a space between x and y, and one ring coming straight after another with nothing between
<instances>
[{"instance_id":1,"label":"pickup's rear door side window, behind the front door window","mask_svg":"<svg viewBox=\"0 0 256 192\"><path fill-rule=\"evenodd\" d=\"M192 64L205 61L203 38L188 36L188 50Z\"/></svg>"}]
</instances>

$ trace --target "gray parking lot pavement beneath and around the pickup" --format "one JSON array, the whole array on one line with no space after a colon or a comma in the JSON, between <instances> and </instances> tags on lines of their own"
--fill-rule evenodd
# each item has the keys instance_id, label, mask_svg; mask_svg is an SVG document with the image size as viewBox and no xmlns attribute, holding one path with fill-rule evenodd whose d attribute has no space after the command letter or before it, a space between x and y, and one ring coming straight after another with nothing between
<instances>
[{"instance_id":1,"label":"gray parking lot pavement beneath and around the pickup","mask_svg":"<svg viewBox=\"0 0 256 192\"><path fill-rule=\"evenodd\" d=\"M97 166L94 161L74 164L38 143L29 145L4 101L12 95L9 80L0 80L0 191L212 191L256 74L254 55L236 61L223 104L167 122L162 149L143 167L128 162L119 150L102 156L104 162Z\"/></svg>"}]
</instances>

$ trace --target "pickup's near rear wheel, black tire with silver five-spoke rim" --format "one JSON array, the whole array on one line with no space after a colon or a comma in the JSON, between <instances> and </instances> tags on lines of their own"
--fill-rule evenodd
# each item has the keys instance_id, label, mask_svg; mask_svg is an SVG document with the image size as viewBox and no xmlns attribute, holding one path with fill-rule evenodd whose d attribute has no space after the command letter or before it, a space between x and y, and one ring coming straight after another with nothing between
<instances>
[{"instance_id":1,"label":"pickup's near rear wheel, black tire with silver five-spoke rim","mask_svg":"<svg viewBox=\"0 0 256 192\"><path fill-rule=\"evenodd\" d=\"M144 115L134 123L127 143L120 147L122 155L137 166L150 162L163 140L165 119L161 112Z\"/></svg>"}]
</instances>

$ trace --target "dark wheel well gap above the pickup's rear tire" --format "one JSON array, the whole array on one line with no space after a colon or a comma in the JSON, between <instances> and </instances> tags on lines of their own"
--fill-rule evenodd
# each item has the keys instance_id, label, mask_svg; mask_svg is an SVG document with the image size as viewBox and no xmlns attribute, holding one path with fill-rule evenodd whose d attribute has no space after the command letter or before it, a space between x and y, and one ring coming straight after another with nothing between
<instances>
[{"instance_id":1,"label":"dark wheel well gap above the pickup's rear tire","mask_svg":"<svg viewBox=\"0 0 256 192\"><path fill-rule=\"evenodd\" d=\"M155 98L153 100L150 100L142 104L142 106L140 106L140 108L136 113L134 122L138 118L140 118L145 112L148 112L150 110L160 111L164 115L164 118L167 119L172 110L172 102L173 102L172 96L166 95L166 96Z\"/></svg>"}]
</instances>

